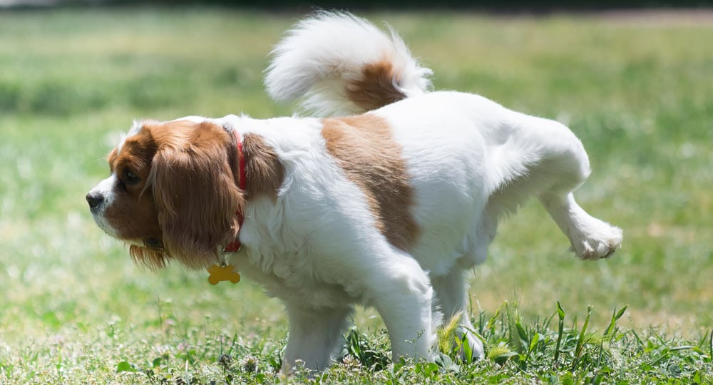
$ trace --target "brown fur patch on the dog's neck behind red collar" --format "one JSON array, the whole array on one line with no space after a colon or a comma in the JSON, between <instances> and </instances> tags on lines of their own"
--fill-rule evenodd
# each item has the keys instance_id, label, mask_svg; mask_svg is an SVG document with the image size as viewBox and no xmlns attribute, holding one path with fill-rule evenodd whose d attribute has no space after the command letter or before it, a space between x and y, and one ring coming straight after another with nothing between
<instances>
[{"instance_id":1,"label":"brown fur patch on the dog's neck behind red collar","mask_svg":"<svg viewBox=\"0 0 713 385\"><path fill-rule=\"evenodd\" d=\"M242 153L245 156L247 199L267 195L275 202L284 178L284 166L279 163L275 150L265 144L262 136L247 133L242 138Z\"/></svg>"}]
</instances>

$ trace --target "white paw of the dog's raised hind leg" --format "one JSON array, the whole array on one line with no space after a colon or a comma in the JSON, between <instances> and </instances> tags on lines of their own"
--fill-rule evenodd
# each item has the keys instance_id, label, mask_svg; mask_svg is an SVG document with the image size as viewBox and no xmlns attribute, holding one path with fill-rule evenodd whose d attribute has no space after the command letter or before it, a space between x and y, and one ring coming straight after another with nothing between
<instances>
[{"instance_id":1,"label":"white paw of the dog's raised hind leg","mask_svg":"<svg viewBox=\"0 0 713 385\"><path fill-rule=\"evenodd\" d=\"M582 260L599 260L610 257L622 245L622 230L607 222L594 221L575 232L572 251Z\"/></svg>"}]
</instances>

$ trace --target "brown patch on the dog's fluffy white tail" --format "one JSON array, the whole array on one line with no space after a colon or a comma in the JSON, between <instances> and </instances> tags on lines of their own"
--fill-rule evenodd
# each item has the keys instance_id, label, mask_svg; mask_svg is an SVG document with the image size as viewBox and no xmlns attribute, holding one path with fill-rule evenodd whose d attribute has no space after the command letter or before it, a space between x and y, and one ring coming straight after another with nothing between
<instances>
[{"instance_id":1,"label":"brown patch on the dog's fluffy white tail","mask_svg":"<svg viewBox=\"0 0 713 385\"><path fill-rule=\"evenodd\" d=\"M347 98L364 111L375 110L406 98L396 88L394 66L391 61L383 60L369 63L361 70L361 78L348 81L344 86Z\"/></svg>"}]
</instances>

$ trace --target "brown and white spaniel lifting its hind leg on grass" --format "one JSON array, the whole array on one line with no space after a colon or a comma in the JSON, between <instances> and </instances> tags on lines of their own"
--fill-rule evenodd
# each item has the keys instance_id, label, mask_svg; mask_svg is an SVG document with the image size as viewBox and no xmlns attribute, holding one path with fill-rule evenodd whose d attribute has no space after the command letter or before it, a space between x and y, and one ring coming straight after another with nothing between
<instances>
[{"instance_id":1,"label":"brown and white spaniel lifting its hind leg on grass","mask_svg":"<svg viewBox=\"0 0 713 385\"><path fill-rule=\"evenodd\" d=\"M612 255L622 230L575 202L590 165L565 125L429 91L430 75L396 32L314 14L265 76L272 98L304 98L314 116L135 121L86 200L138 264L228 263L281 299L287 373L331 363L354 304L379 312L395 360L434 359L449 317L483 356L465 274L498 221L536 197L584 260Z\"/></svg>"}]
</instances>

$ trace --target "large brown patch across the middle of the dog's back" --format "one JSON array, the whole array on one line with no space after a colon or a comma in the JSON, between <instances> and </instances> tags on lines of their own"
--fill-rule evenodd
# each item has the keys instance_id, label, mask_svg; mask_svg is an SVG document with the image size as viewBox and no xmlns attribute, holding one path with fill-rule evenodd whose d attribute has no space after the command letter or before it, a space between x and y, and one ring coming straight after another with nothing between
<instances>
[{"instance_id":1,"label":"large brown patch across the middle of the dog's back","mask_svg":"<svg viewBox=\"0 0 713 385\"><path fill-rule=\"evenodd\" d=\"M374 115L322 120L327 151L339 161L347 178L366 195L376 225L387 240L408 250L419 237L411 215L413 191L386 121Z\"/></svg>"}]
</instances>

